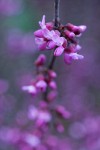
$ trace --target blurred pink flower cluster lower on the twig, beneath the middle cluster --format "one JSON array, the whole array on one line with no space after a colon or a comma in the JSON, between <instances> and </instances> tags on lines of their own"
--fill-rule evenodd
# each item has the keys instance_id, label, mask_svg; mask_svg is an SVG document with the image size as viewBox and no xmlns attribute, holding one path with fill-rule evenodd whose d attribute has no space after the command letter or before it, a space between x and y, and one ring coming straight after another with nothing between
<instances>
[{"instance_id":1,"label":"blurred pink flower cluster lower on the twig, beneath the middle cluster","mask_svg":"<svg viewBox=\"0 0 100 150\"><path fill-rule=\"evenodd\" d=\"M53 120L54 114L55 120ZM38 107L30 106L28 112L28 118L33 120L36 129L42 132L50 131L49 127L51 124L57 132L64 132L62 120L69 119L70 117L70 112L64 106L57 105L51 108L49 102L47 103L42 100L39 102Z\"/></svg>"}]
</instances>

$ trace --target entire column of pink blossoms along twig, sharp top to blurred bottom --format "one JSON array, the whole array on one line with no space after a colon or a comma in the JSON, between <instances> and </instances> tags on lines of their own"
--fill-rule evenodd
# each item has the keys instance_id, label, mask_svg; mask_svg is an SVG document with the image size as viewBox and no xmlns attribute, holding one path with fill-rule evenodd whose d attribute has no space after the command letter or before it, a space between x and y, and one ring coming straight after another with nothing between
<instances>
[{"instance_id":1,"label":"entire column of pink blossoms along twig, sharp top to blurred bottom","mask_svg":"<svg viewBox=\"0 0 100 150\"><path fill-rule=\"evenodd\" d=\"M41 51L54 49L54 59L64 53L64 60L67 64L71 63L72 60L83 59L83 56L77 53L81 46L78 44L76 37L81 36L86 26L75 26L68 23L65 26L59 24L58 27L55 27L53 22L45 23L45 15L39 25L41 29L35 31L34 35L35 42ZM53 103L57 96L55 82L57 74L53 67L46 67L46 60L44 54L39 55L34 63L36 67L35 78L29 85L22 87L24 91L33 96L40 92L43 94L37 106L31 105L28 112L28 118L34 122L34 134L29 134L25 140L36 150L41 143L43 144L48 133L51 133L51 127L53 127L53 130L62 133L65 131L65 120L71 118L71 113L64 106Z\"/></svg>"}]
</instances>

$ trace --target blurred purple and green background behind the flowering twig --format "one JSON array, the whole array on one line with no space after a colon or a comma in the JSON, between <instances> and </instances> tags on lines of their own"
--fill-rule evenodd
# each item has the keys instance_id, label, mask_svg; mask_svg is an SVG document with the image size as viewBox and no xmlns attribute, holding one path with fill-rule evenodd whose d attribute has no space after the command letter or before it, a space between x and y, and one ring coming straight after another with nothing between
<instances>
[{"instance_id":1,"label":"blurred purple and green background behind the flowering twig","mask_svg":"<svg viewBox=\"0 0 100 150\"><path fill-rule=\"evenodd\" d=\"M44 14L47 22L53 19L54 0L0 0L0 150L33 149L18 146L20 134L33 130L27 112L36 102L21 87L34 78L40 52L33 32ZM66 139L61 149L100 150L100 0L61 0L60 18L63 24L87 26L80 38L84 60L66 65L61 56L54 66L56 103L71 113L58 135Z\"/></svg>"}]
</instances>

